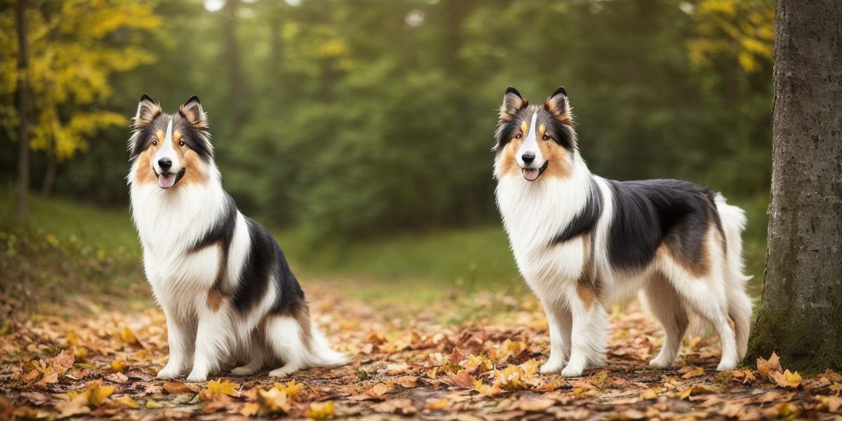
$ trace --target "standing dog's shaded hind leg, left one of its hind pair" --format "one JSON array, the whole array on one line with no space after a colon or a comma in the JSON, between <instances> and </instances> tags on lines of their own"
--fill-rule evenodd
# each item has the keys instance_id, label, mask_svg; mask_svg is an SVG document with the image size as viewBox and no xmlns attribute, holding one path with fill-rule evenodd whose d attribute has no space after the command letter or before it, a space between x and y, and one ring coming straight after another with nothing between
<instances>
[{"instance_id":1,"label":"standing dog's shaded hind leg, left one of its hind pair","mask_svg":"<svg viewBox=\"0 0 842 421\"><path fill-rule=\"evenodd\" d=\"M642 291L640 298L649 312L661 322L665 337L658 356L649 361L649 365L658 368L668 368L673 364L681 348L681 338L684 338L688 319L685 306L679 293L673 285L656 272Z\"/></svg>"}]
</instances>

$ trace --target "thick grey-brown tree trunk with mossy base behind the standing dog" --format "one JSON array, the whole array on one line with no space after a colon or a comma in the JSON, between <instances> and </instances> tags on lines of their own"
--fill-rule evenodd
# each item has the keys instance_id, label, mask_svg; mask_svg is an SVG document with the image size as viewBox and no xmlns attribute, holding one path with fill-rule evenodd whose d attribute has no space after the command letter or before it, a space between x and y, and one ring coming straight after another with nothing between
<instances>
[{"instance_id":1,"label":"thick grey-brown tree trunk with mossy base behind the standing dog","mask_svg":"<svg viewBox=\"0 0 842 421\"><path fill-rule=\"evenodd\" d=\"M763 298L747 362L842 368L842 3L778 0Z\"/></svg>"}]
</instances>

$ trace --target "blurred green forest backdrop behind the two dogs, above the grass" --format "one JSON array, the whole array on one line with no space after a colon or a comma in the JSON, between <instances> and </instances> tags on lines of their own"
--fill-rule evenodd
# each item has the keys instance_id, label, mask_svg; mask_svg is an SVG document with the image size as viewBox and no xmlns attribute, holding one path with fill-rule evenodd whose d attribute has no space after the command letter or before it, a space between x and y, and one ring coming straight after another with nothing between
<instances>
[{"instance_id":1,"label":"blurred green forest backdrop behind the two dogs, above the grass","mask_svg":"<svg viewBox=\"0 0 842 421\"><path fill-rule=\"evenodd\" d=\"M490 148L509 85L534 103L567 88L594 173L690 179L762 202L773 7L162 2L143 43L157 61L112 77L105 105L131 116L147 92L172 112L198 94L226 189L311 245L497 221ZM11 151L9 136L0 142ZM61 164L56 191L125 203L127 137L101 131L87 155ZM11 180L12 155L0 156L0 179ZM36 156L36 183L44 168Z\"/></svg>"}]
</instances>

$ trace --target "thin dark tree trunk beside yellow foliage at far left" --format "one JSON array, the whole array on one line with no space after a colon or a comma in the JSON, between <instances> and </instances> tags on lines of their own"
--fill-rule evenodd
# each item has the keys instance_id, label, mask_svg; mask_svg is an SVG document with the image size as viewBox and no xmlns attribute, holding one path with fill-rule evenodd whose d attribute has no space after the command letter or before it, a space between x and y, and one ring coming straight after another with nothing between
<instances>
[{"instance_id":1,"label":"thin dark tree trunk beside yellow foliage at far left","mask_svg":"<svg viewBox=\"0 0 842 421\"><path fill-rule=\"evenodd\" d=\"M29 190L29 63L26 47L26 0L18 0L18 221L26 221L26 193Z\"/></svg>"}]
</instances>

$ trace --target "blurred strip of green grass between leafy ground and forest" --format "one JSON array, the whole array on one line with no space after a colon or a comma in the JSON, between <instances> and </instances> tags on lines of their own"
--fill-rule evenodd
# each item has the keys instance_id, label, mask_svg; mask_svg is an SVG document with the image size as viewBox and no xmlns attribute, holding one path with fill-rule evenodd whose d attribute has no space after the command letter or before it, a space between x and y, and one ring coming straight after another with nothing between
<instances>
[{"instance_id":1,"label":"blurred strip of green grass between leafy ground and forest","mask_svg":"<svg viewBox=\"0 0 842 421\"><path fill-rule=\"evenodd\" d=\"M18 253L8 243L10 233L31 237L29 253L21 252L18 258L29 256L24 263L40 270L43 276L32 277L42 284L56 288L90 280L101 287L143 282L141 248L127 208L31 196L29 221L17 226L13 192L5 190L0 199L2 258ZM754 296L759 295L763 279L767 200L765 196L732 200L749 214L744 249L746 271L754 274L749 285ZM320 279L367 300L431 302L477 290L525 290L498 224L316 246L306 245L301 230L274 232L302 284ZM78 267L68 263L72 260L79 261ZM21 265L7 261L12 264ZM48 270L56 266L62 270ZM84 279L76 283L65 279L74 276Z\"/></svg>"}]
</instances>

